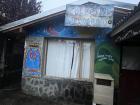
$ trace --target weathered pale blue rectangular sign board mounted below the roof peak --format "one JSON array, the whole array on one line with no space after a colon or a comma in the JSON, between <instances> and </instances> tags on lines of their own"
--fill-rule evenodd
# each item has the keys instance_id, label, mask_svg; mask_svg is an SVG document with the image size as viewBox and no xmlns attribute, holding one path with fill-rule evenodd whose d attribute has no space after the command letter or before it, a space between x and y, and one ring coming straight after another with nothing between
<instances>
[{"instance_id":1,"label":"weathered pale blue rectangular sign board mounted below the roof peak","mask_svg":"<svg viewBox=\"0 0 140 105\"><path fill-rule=\"evenodd\" d=\"M65 26L112 28L113 11L109 5L67 5Z\"/></svg>"}]
</instances>

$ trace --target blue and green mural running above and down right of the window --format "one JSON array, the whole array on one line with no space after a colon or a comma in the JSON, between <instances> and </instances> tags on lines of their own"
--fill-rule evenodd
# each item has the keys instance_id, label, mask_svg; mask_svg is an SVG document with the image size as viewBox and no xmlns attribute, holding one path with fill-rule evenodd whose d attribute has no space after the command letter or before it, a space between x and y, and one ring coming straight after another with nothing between
<instances>
[{"instance_id":1,"label":"blue and green mural running above and down right of the window","mask_svg":"<svg viewBox=\"0 0 140 105\"><path fill-rule=\"evenodd\" d=\"M60 16L27 31L33 37L95 39L95 73L110 74L118 87L120 52L108 35L110 28L66 27L64 16Z\"/></svg>"}]
</instances>

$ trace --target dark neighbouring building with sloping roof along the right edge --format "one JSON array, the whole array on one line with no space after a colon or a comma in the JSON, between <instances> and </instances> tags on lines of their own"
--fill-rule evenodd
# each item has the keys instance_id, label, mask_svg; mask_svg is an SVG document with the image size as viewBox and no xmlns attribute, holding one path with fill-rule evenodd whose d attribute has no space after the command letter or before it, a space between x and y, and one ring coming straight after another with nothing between
<instances>
[{"instance_id":1,"label":"dark neighbouring building with sloping roof along the right edge","mask_svg":"<svg viewBox=\"0 0 140 105\"><path fill-rule=\"evenodd\" d=\"M140 3L123 17L111 37L121 48L120 105L140 104Z\"/></svg>"}]
</instances>

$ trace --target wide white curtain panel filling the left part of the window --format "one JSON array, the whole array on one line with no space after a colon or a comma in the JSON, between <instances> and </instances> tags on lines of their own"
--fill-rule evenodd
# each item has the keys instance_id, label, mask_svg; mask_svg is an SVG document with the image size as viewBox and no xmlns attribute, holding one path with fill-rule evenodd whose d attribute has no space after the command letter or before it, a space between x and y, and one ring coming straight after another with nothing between
<instances>
[{"instance_id":1,"label":"wide white curtain panel filling the left part of the window","mask_svg":"<svg viewBox=\"0 0 140 105\"><path fill-rule=\"evenodd\" d=\"M56 77L69 77L73 43L69 41L48 41L46 74Z\"/></svg>"}]
</instances>

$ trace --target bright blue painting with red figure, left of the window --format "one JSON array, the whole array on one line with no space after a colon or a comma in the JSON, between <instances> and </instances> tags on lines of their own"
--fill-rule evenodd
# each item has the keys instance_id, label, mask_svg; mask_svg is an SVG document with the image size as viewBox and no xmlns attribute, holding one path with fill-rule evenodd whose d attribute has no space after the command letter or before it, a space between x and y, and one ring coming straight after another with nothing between
<instances>
[{"instance_id":1,"label":"bright blue painting with red figure, left of the window","mask_svg":"<svg viewBox=\"0 0 140 105\"><path fill-rule=\"evenodd\" d=\"M24 57L24 74L39 77L41 75L41 52L39 48L26 48Z\"/></svg>"}]
</instances>

